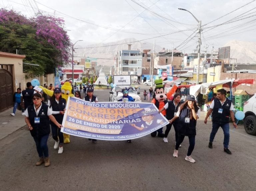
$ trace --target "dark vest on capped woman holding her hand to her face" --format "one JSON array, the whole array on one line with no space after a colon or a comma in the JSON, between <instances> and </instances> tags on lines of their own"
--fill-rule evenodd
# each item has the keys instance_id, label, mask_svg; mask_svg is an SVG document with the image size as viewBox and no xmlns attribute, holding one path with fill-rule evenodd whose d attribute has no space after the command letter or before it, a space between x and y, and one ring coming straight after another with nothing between
<instances>
[{"instance_id":1,"label":"dark vest on capped woman holding her hand to her face","mask_svg":"<svg viewBox=\"0 0 256 191\"><path fill-rule=\"evenodd\" d=\"M185 123L186 117L190 118L190 112L187 108L183 108L179 118L179 134L189 137L196 136L196 120L192 117L189 123Z\"/></svg>"}]
</instances>

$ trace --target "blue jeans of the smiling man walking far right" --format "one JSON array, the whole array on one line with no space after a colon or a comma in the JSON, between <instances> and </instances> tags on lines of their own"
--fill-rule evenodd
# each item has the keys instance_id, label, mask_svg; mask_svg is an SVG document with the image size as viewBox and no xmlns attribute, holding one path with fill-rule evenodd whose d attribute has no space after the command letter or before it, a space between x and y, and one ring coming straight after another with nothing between
<instances>
[{"instance_id":1,"label":"blue jeans of the smiling man walking far right","mask_svg":"<svg viewBox=\"0 0 256 191\"><path fill-rule=\"evenodd\" d=\"M225 124L212 123L212 132L210 134L210 143L213 142L213 139L214 139L219 127L222 128L223 133L224 133L223 146L224 146L224 148L228 148L228 144L229 144L229 123L225 123Z\"/></svg>"}]
</instances>

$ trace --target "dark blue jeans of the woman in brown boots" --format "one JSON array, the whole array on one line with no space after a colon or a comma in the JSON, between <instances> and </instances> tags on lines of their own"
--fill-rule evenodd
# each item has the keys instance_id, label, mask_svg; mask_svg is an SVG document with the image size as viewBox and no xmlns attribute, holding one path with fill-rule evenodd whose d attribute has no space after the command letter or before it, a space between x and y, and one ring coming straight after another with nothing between
<instances>
[{"instance_id":1,"label":"dark blue jeans of the woman in brown boots","mask_svg":"<svg viewBox=\"0 0 256 191\"><path fill-rule=\"evenodd\" d=\"M47 146L48 137L49 135L44 135L42 137L33 137L36 143L36 150L39 157L49 156L48 146Z\"/></svg>"}]
</instances>

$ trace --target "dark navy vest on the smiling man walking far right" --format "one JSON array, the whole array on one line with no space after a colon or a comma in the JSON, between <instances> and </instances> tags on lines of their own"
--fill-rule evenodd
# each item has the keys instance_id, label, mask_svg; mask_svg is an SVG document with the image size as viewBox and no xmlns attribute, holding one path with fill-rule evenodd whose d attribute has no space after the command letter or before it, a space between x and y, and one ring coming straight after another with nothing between
<instances>
[{"instance_id":1,"label":"dark navy vest on the smiling man walking far right","mask_svg":"<svg viewBox=\"0 0 256 191\"><path fill-rule=\"evenodd\" d=\"M230 106L231 100L226 98L226 101L221 105L220 100L215 98L214 99L214 108L212 111L212 122L225 124L229 123L229 116L230 116ZM218 113L219 108L223 109L222 113Z\"/></svg>"}]
</instances>

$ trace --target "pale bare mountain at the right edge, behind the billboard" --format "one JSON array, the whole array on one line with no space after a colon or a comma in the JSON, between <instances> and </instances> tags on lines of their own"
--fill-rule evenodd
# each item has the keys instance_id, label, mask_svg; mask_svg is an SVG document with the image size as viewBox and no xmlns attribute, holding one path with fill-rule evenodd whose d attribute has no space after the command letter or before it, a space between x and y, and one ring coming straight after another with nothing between
<instances>
[{"instance_id":1,"label":"pale bare mountain at the right edge, behind the billboard","mask_svg":"<svg viewBox=\"0 0 256 191\"><path fill-rule=\"evenodd\" d=\"M256 64L256 43L232 40L225 46L230 46L230 58L236 58L240 64Z\"/></svg>"}]
</instances>

